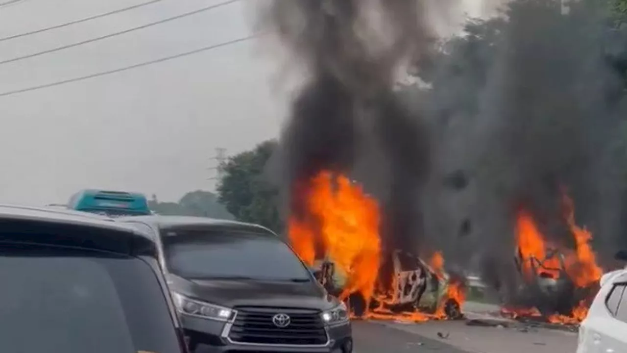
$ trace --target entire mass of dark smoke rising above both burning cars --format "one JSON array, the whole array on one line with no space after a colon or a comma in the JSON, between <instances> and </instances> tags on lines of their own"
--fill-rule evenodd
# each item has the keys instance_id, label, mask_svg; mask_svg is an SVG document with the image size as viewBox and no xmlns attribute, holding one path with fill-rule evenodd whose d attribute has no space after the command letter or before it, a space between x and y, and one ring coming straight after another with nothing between
<instances>
[{"instance_id":1,"label":"entire mass of dark smoke rising above both burning cars","mask_svg":"<svg viewBox=\"0 0 627 353\"><path fill-rule=\"evenodd\" d=\"M278 155L287 209L307 217L302 183L347 173L381 201L384 247L441 249L514 298L516 213L573 246L566 190L611 258L627 247L627 35L600 3L512 0L437 46L428 14L456 1L271 1L264 23L308 73ZM408 63L430 89L394 92Z\"/></svg>"}]
</instances>

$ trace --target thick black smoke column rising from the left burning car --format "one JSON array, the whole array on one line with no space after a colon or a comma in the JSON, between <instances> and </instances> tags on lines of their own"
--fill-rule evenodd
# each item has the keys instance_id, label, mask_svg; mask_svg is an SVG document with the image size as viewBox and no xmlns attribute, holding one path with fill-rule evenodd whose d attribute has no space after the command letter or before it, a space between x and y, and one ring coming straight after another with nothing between
<instances>
[{"instance_id":1,"label":"thick black smoke column rising from the left burning car","mask_svg":"<svg viewBox=\"0 0 627 353\"><path fill-rule=\"evenodd\" d=\"M288 212L307 217L307 181L322 170L366 185L384 209L387 249L413 249L419 192L428 172L421 122L393 91L396 70L429 40L424 4L413 0L275 0L265 13L308 70L281 137Z\"/></svg>"}]
</instances>

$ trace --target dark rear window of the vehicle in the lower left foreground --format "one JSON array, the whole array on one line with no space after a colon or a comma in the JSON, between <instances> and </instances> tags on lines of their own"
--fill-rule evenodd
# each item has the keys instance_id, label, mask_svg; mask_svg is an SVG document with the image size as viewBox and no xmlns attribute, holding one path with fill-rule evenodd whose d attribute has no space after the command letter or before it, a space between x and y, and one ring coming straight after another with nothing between
<instances>
[{"instance_id":1,"label":"dark rear window of the vehicle in the lower left foreground","mask_svg":"<svg viewBox=\"0 0 627 353\"><path fill-rule=\"evenodd\" d=\"M0 352L180 352L142 259L3 244L0 283Z\"/></svg>"}]
</instances>

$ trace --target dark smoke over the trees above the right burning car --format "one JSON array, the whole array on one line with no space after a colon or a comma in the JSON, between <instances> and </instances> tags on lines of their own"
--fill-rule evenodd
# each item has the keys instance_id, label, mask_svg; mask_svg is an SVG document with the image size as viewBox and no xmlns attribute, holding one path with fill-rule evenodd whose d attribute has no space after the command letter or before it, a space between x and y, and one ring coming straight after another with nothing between
<instances>
[{"instance_id":1,"label":"dark smoke over the trees above the right burning car","mask_svg":"<svg viewBox=\"0 0 627 353\"><path fill-rule=\"evenodd\" d=\"M602 264L626 245L619 53L627 53L627 36L602 3L512 0L502 16L470 21L431 72L438 163L427 198L429 239L447 261L473 265L512 300L521 207L551 241L572 248L566 190Z\"/></svg>"}]
</instances>

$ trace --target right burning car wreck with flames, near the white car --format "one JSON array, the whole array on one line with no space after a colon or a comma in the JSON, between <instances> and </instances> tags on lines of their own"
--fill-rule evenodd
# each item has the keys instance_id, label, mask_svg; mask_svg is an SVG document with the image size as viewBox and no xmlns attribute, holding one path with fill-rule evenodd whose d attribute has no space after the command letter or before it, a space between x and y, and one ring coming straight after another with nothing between
<instances>
[{"instance_id":1,"label":"right burning car wreck with flames, near the white car","mask_svg":"<svg viewBox=\"0 0 627 353\"><path fill-rule=\"evenodd\" d=\"M562 204L572 247L548 241L528 212L517 215L514 263L520 286L516 304L503 308L508 316L569 324L586 316L603 271L596 263L592 234L575 223L571 199L564 195Z\"/></svg>"}]
</instances>

